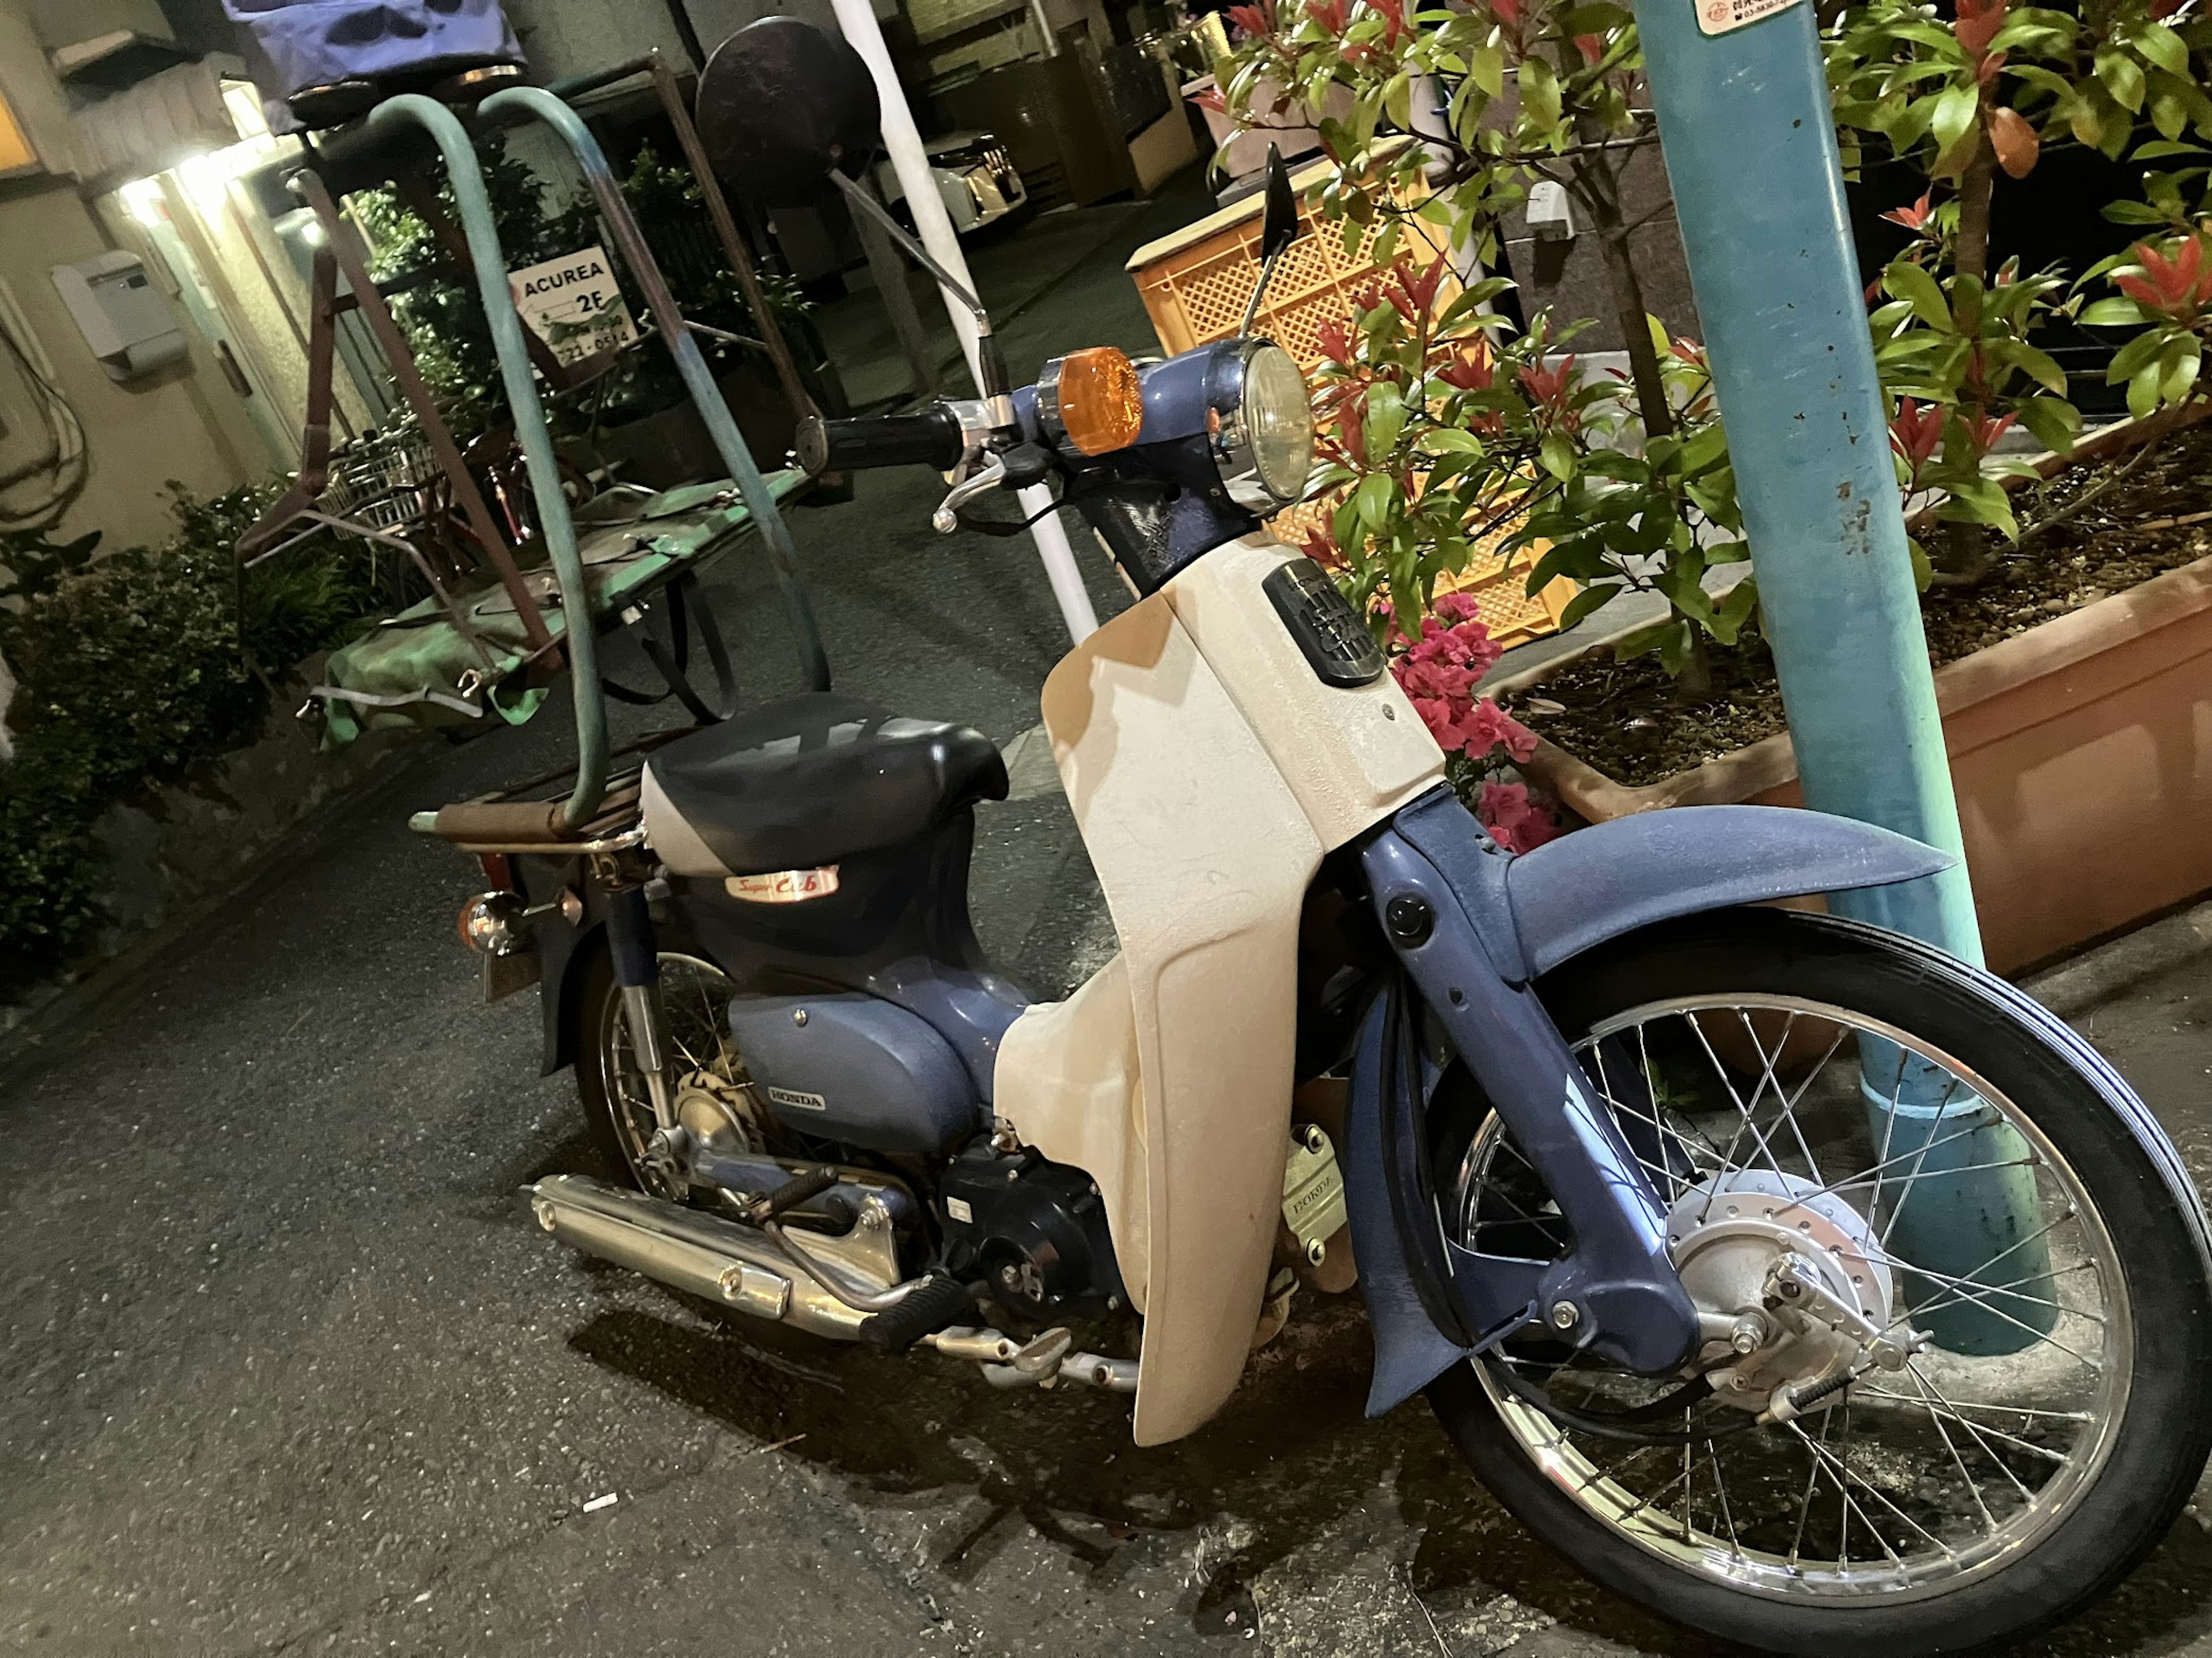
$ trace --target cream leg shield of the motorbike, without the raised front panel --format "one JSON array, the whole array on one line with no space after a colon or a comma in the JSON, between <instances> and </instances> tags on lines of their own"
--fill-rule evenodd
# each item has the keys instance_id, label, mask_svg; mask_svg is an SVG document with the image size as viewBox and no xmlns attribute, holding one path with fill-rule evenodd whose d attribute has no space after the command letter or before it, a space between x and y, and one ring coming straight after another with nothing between
<instances>
[{"instance_id":1,"label":"cream leg shield of the motorbike, without the raised front panel","mask_svg":"<svg viewBox=\"0 0 2212 1658\"><path fill-rule=\"evenodd\" d=\"M1298 911L1321 840L1164 597L1053 670L1044 727L1121 955L1068 1012L1037 1008L1006 1032L998 1112L1099 1180L1144 1298L1135 1435L1150 1446L1228 1399L1259 1320L1290 1143ZM1119 1132L1086 1121L1093 1083L1119 1066L1108 975L1126 984L1141 1072ZM1068 1017L1091 997L1095 1017Z\"/></svg>"}]
</instances>

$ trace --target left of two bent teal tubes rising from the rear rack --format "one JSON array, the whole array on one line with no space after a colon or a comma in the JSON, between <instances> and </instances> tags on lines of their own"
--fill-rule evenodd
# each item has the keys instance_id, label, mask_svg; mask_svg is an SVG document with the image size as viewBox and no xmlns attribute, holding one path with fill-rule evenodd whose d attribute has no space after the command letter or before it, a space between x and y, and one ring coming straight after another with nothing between
<instances>
[{"instance_id":1,"label":"left of two bent teal tubes rising from the rear rack","mask_svg":"<svg viewBox=\"0 0 2212 1658\"><path fill-rule=\"evenodd\" d=\"M491 327L491 347L500 358L500 380L507 407L515 416L515 442L531 475L531 495L544 526L553 575L560 579L562 641L568 652L568 696L575 703L575 789L562 816L571 827L588 822L606 791L606 707L599 703L599 652L591 621L591 588L584 586L584 559L575 550L575 522L562 493L560 462L553 458L553 433L538 402L538 380L531 374L529 349L522 343L522 318L515 296L507 290L507 256L500 232L491 223L491 197L484 195L484 172L476 164L469 133L445 104L420 93L387 97L369 111L369 128L394 128L416 122L438 141L447 177L453 181L453 206L469 237L469 263L476 265L476 294Z\"/></svg>"}]
</instances>

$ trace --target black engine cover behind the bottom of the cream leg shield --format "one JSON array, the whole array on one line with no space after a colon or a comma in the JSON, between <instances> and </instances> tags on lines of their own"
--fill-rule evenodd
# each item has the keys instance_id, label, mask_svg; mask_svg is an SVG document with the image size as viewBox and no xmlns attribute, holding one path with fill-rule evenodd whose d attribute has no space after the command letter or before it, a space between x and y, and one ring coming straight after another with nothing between
<instances>
[{"instance_id":1,"label":"black engine cover behind the bottom of the cream leg shield","mask_svg":"<svg viewBox=\"0 0 2212 1658\"><path fill-rule=\"evenodd\" d=\"M945 1265L1031 1318L1110 1313L1128 1300L1106 1231L1106 1205L1082 1169L1035 1150L1000 1154L975 1141L938 1185Z\"/></svg>"}]
</instances>

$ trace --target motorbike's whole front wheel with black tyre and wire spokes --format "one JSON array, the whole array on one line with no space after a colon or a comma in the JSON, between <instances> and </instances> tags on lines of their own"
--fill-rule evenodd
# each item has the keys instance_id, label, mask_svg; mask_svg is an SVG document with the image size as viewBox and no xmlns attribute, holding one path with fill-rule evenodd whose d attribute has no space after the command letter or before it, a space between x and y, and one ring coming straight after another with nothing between
<instances>
[{"instance_id":1,"label":"motorbike's whole front wheel with black tyre and wire spokes","mask_svg":"<svg viewBox=\"0 0 2212 1658\"><path fill-rule=\"evenodd\" d=\"M2212 1256L2172 1145L2064 1026L1909 940L1783 911L1648 928L1540 990L1719 1318L1681 1375L1546 1333L1431 1384L1537 1536L1714 1636L1909 1658L2046 1629L2166 1534L2212 1448ZM1447 1236L1564 1251L1464 1068L1429 1121ZM1836 1357L1781 1300L1794 1273L1887 1364ZM1814 1373L1829 1393L1761 1419Z\"/></svg>"}]
</instances>

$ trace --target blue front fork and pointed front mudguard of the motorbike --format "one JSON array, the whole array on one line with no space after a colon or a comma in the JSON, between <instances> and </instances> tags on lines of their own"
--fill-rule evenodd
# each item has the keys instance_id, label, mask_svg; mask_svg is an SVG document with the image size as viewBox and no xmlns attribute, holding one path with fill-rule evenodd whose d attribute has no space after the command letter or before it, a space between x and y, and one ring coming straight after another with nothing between
<instances>
[{"instance_id":1,"label":"blue front fork and pointed front mudguard of the motorbike","mask_svg":"<svg viewBox=\"0 0 2212 1658\"><path fill-rule=\"evenodd\" d=\"M1632 1368L1663 1368L1686 1340L1674 1331L1688 1300L1666 1262L1657 1198L1524 988L1531 979L1677 915L1885 886L1951 862L1887 829L1783 807L1652 811L1517 858L1442 789L1383 825L1363 867L1407 977L1402 990L1385 990L1360 1035L1343 1147L1352 1247L1376 1337L1369 1413L1562 1295L1588 1309L1577 1344ZM1391 928L1391 898L1418 898L1433 928ZM1440 1236L1420 1127L1427 1088L1400 1074L1389 1037L1402 993L1427 999L1544 1174L1577 1240L1568 1258L1540 1267L1478 1256Z\"/></svg>"}]
</instances>

